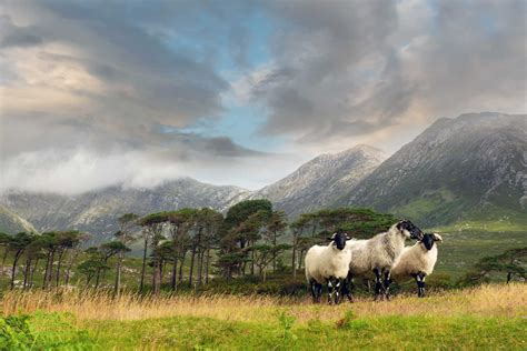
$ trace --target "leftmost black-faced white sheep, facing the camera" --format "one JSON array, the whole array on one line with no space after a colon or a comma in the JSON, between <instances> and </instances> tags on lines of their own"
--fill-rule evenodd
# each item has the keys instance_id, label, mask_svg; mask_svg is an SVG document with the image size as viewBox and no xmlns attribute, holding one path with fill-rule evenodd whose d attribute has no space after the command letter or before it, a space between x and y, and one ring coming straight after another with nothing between
<instances>
[{"instance_id":1,"label":"leftmost black-faced white sheep, facing the camera","mask_svg":"<svg viewBox=\"0 0 527 351\"><path fill-rule=\"evenodd\" d=\"M328 303L338 304L341 282L348 275L351 261L351 253L346 247L349 238L346 233L337 232L328 240L331 240L328 245L314 245L306 253L306 279L315 303L320 302L322 284L327 283Z\"/></svg>"}]
</instances>

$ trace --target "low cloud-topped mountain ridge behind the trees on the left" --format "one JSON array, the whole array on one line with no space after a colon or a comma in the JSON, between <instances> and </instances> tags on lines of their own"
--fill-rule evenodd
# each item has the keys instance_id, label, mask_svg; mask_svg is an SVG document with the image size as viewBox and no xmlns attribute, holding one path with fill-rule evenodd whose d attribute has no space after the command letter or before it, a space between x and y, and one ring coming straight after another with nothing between
<instances>
[{"instance_id":1,"label":"low cloud-topped mountain ridge behind the trees on the left","mask_svg":"<svg viewBox=\"0 0 527 351\"><path fill-rule=\"evenodd\" d=\"M148 214L186 207L226 210L247 197L237 187L217 187L190 178L153 189L120 185L78 195L8 191L0 202L30 220L39 231L77 229L100 241L117 231L117 218L127 212Z\"/></svg>"}]
</instances>

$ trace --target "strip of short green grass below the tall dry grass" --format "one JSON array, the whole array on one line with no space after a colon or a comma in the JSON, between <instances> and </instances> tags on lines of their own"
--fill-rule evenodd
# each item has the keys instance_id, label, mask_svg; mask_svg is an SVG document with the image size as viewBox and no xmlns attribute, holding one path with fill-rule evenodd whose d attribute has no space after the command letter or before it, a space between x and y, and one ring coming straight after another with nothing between
<instances>
[{"instance_id":1,"label":"strip of short green grass below the tall dry grass","mask_svg":"<svg viewBox=\"0 0 527 351\"><path fill-rule=\"evenodd\" d=\"M371 317L345 313L337 322L240 322L177 317L139 321L76 323L68 314L29 319L34 349L158 350L525 350L526 320L499 317Z\"/></svg>"}]
</instances>

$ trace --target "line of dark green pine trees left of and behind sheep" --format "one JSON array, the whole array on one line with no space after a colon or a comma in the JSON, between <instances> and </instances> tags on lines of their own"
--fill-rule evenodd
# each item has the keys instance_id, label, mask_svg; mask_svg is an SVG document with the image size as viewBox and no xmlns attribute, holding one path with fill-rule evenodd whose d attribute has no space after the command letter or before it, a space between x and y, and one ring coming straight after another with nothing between
<instances>
[{"instance_id":1,"label":"line of dark green pine trees left of and behind sheep","mask_svg":"<svg viewBox=\"0 0 527 351\"><path fill-rule=\"evenodd\" d=\"M208 284L211 277L230 281L255 275L265 281L268 272L278 269L289 270L296 277L308 248L324 242L328 233L342 229L355 238L368 238L395 221L390 214L368 209L340 208L305 213L288 222L286 214L274 210L268 200L241 201L225 215L209 208L143 217L126 213L117 218L118 231L110 241L87 249L83 243L89 235L74 230L0 233L0 280L9 255L11 289L20 273L22 280L18 285L24 290L34 288L36 274L41 274L41 289L69 285L74 267L84 278L86 287L95 289L113 269L112 290L119 294L123 260L130 247L139 243L141 268L137 289L155 294L161 287L173 292L181 284L199 288ZM290 264L284 263L286 252L290 253Z\"/></svg>"}]
</instances>

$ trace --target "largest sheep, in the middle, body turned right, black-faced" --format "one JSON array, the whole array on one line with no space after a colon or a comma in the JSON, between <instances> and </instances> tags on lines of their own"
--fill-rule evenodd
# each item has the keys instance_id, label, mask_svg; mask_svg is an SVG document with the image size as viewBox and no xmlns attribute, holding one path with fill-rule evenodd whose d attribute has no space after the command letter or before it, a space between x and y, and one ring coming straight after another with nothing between
<instances>
[{"instance_id":1,"label":"largest sheep, in the middle, body turned right, black-faced","mask_svg":"<svg viewBox=\"0 0 527 351\"><path fill-rule=\"evenodd\" d=\"M351 240L348 245L352 260L349 273L342 287L342 294L352 298L352 282L355 277L368 278L375 274L375 299L384 297L389 299L390 271L394 262L405 248L405 240L411 238L422 239L422 231L408 220L401 220L390 227L387 232L379 233L368 240Z\"/></svg>"}]
</instances>

